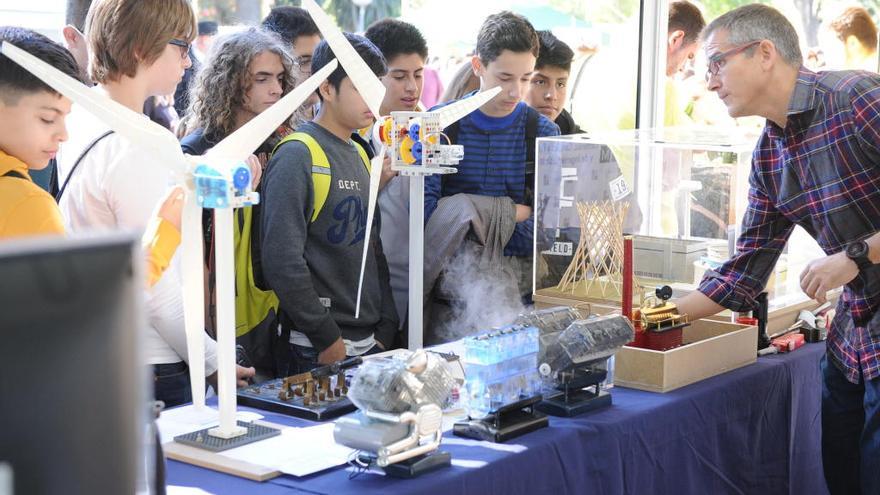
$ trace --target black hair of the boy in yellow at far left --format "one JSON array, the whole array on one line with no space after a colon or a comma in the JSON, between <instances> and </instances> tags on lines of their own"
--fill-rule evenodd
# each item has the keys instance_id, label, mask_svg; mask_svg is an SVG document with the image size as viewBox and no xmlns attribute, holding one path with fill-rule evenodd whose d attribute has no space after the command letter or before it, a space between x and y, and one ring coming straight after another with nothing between
<instances>
[{"instance_id":1,"label":"black hair of the boy in yellow at far left","mask_svg":"<svg viewBox=\"0 0 880 495\"><path fill-rule=\"evenodd\" d=\"M64 74L81 81L79 67L73 55L66 48L40 33L15 26L0 26L0 42L12 43ZM0 98L5 103L15 104L21 94L38 91L58 94L24 67L13 62L6 55L0 54Z\"/></svg>"}]
</instances>

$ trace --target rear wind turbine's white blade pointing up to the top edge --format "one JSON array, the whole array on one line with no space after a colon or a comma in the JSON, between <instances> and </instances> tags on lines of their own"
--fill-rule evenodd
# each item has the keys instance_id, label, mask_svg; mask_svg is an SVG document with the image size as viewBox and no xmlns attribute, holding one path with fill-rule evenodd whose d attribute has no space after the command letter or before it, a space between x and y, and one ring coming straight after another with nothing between
<instances>
[{"instance_id":1,"label":"rear wind turbine's white blade pointing up to the top edge","mask_svg":"<svg viewBox=\"0 0 880 495\"><path fill-rule=\"evenodd\" d=\"M324 9L319 7L314 0L303 0L302 6L309 11L318 30L324 35L333 54L345 69L345 73L351 78L351 82L354 83L364 102L370 107L373 116L378 119L381 116L379 107L382 105L382 100L385 99L385 86L382 81L376 77L376 74L373 74L364 59L345 39L342 30L336 27Z\"/></svg>"}]
</instances>

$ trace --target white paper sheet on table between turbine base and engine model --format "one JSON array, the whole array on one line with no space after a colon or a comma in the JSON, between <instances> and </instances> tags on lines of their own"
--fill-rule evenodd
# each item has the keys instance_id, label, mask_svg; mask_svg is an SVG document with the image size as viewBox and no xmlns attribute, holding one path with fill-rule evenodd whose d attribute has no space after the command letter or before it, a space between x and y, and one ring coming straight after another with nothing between
<instances>
[{"instance_id":1,"label":"white paper sheet on table between turbine base and engine model","mask_svg":"<svg viewBox=\"0 0 880 495\"><path fill-rule=\"evenodd\" d=\"M333 440L333 423L307 428L285 428L281 435L220 455L277 469L293 476L306 476L348 462L352 449Z\"/></svg>"}]
</instances>

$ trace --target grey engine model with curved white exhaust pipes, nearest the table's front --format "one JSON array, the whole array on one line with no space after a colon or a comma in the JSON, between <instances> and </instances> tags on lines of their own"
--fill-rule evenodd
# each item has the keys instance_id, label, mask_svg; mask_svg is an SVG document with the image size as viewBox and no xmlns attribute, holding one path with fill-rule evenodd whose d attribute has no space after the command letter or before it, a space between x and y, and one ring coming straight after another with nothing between
<instances>
[{"instance_id":1,"label":"grey engine model with curved white exhaust pipes, nearest the table's front","mask_svg":"<svg viewBox=\"0 0 880 495\"><path fill-rule=\"evenodd\" d=\"M410 478L450 465L437 452L443 408L457 382L446 360L418 350L367 360L351 380L356 414L336 420L337 443L357 449L356 462Z\"/></svg>"}]
</instances>

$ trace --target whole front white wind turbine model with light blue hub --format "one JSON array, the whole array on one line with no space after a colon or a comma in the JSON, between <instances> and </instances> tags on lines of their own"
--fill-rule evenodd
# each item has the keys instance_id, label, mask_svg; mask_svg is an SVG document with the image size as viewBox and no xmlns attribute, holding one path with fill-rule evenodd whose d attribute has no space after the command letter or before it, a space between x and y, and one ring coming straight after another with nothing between
<instances>
[{"instance_id":1,"label":"whole front white wind turbine model with light blue hub","mask_svg":"<svg viewBox=\"0 0 880 495\"><path fill-rule=\"evenodd\" d=\"M184 155L180 143L164 127L151 122L110 98L29 53L3 42L0 52L50 87L70 98L115 132L151 153L157 166L168 167L174 182L184 186L186 202L182 220L181 262L187 354L192 380L193 405L204 418L213 415L205 406L205 325L202 254L202 208L215 210L217 266L217 355L220 425L209 434L220 439L239 437L247 429L235 421L235 278L232 209L259 202L251 188L245 159L311 95L336 68L332 60L303 84L217 143L201 156Z\"/></svg>"}]
</instances>

